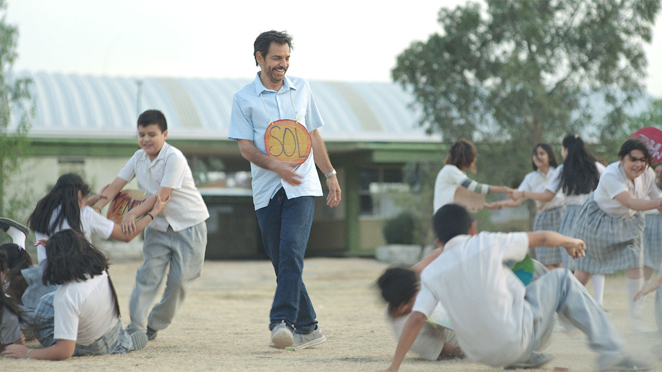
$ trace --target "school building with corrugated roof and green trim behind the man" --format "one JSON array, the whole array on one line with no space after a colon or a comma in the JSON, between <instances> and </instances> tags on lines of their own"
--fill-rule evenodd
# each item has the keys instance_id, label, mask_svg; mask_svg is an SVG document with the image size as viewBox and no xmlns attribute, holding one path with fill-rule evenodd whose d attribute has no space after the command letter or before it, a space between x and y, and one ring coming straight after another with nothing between
<instances>
[{"instance_id":1,"label":"school building with corrugated roof and green trim behind the man","mask_svg":"<svg viewBox=\"0 0 662 372\"><path fill-rule=\"evenodd\" d=\"M32 79L35 116L25 164L30 179L21 187L34 198L65 172L79 172L93 190L111 182L138 149L138 114L158 109L167 118L167 142L186 155L209 207L208 258L263 256L250 164L227 138L232 96L250 79L25 75ZM308 253L372 254L384 243L383 221L397 213L388 190L402 185L402 166L441 163L445 150L440 137L418 126L413 96L399 85L310 81L310 87L342 202L330 209L326 195L316 198ZM326 194L322 174L320 180Z\"/></svg>"}]
</instances>

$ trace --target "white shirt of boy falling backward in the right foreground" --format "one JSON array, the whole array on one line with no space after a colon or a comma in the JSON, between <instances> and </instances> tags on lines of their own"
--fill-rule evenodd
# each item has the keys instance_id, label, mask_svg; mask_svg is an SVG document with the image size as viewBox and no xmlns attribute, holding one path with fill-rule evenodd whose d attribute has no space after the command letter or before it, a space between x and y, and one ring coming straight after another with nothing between
<instances>
[{"instance_id":1,"label":"white shirt of boy falling backward in the right foreground","mask_svg":"<svg viewBox=\"0 0 662 372\"><path fill-rule=\"evenodd\" d=\"M442 303L457 341L472 360L512 365L532 341L533 314L524 301L526 287L504 266L528 252L526 233L459 235L421 273L421 289L412 311L432 315Z\"/></svg>"}]
</instances>

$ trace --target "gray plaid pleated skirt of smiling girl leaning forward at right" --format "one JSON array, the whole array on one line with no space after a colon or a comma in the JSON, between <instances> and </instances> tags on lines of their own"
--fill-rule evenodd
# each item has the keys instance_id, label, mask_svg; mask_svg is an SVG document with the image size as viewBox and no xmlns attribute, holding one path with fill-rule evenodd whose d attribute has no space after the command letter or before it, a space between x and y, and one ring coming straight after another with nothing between
<instances>
[{"instance_id":1,"label":"gray plaid pleated skirt of smiling girl leaning forward at right","mask_svg":"<svg viewBox=\"0 0 662 372\"><path fill-rule=\"evenodd\" d=\"M593 199L587 198L572 229L573 237L586 242L586 257L575 260L575 270L608 274L614 270L641 268L643 214L632 217L608 215Z\"/></svg>"}]
</instances>

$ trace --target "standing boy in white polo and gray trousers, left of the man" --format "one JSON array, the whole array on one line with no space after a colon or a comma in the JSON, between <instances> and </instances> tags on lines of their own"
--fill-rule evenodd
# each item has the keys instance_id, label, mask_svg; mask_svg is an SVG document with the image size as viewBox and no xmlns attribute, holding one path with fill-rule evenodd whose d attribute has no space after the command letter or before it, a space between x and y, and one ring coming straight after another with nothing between
<instances>
[{"instance_id":1,"label":"standing boy in white polo and gray trousers, left of the man","mask_svg":"<svg viewBox=\"0 0 662 372\"><path fill-rule=\"evenodd\" d=\"M149 196L122 219L122 231L136 229L136 217L152 218L145 229L144 262L136 272L136 287L129 303L129 333L147 332L150 340L165 329L186 297L191 281L203 268L207 246L207 205L195 187L191 168L179 149L166 143L167 123L158 110L147 110L138 117L138 144L128 163L103 193L96 205L103 207L136 177L140 190ZM156 217L149 215L156 195L170 196L166 208ZM159 303L150 311L159 284L167 274L166 289ZM148 316L149 312L149 316ZM147 324L145 324L147 318Z\"/></svg>"}]
</instances>

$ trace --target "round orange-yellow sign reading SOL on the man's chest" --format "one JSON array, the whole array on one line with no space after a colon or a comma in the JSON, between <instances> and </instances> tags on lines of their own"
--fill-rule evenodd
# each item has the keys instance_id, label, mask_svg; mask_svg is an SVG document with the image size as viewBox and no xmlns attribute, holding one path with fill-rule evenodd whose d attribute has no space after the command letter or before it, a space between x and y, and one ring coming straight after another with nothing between
<instances>
[{"instance_id":1,"label":"round orange-yellow sign reading SOL on the man's chest","mask_svg":"<svg viewBox=\"0 0 662 372\"><path fill-rule=\"evenodd\" d=\"M306 127L294 120L276 120L264 133L264 147L269 157L299 165L308 159L312 139Z\"/></svg>"}]
</instances>

